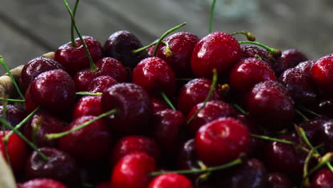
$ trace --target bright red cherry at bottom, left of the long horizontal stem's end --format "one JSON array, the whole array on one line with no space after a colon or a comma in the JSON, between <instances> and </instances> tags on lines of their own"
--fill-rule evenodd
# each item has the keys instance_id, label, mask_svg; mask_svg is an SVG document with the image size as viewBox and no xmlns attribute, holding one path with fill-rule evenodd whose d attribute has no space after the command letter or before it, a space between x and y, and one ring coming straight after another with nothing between
<instances>
[{"instance_id":1,"label":"bright red cherry at bottom, left of the long horizontal stem's end","mask_svg":"<svg viewBox=\"0 0 333 188\"><path fill-rule=\"evenodd\" d=\"M117 162L111 175L112 188L145 188L156 170L154 158L145 152L134 152Z\"/></svg>"}]
</instances>

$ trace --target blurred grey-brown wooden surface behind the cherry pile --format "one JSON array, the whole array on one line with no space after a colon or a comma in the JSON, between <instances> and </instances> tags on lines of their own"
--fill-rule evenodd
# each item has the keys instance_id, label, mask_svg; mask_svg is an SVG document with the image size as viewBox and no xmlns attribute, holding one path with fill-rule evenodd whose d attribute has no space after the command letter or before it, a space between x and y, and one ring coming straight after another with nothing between
<instances>
[{"instance_id":1,"label":"blurred grey-brown wooden surface behind the cherry pile","mask_svg":"<svg viewBox=\"0 0 333 188\"><path fill-rule=\"evenodd\" d=\"M75 1L68 2L73 6ZM184 21L188 24L181 30L205 36L210 4L211 0L81 0L77 22L83 35L102 44L115 31L128 30L146 45ZM10 68L70 40L63 1L0 0L0 5L0 55ZM250 31L269 46L298 48L315 59L333 52L333 1L217 0L213 28Z\"/></svg>"}]
</instances>

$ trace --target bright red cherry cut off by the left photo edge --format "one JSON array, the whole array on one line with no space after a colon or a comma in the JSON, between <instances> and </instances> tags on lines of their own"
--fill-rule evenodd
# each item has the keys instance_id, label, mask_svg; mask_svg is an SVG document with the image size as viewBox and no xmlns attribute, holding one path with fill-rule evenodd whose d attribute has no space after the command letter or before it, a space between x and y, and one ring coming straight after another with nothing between
<instances>
[{"instance_id":1,"label":"bright red cherry cut off by the left photo edge","mask_svg":"<svg viewBox=\"0 0 333 188\"><path fill-rule=\"evenodd\" d=\"M6 135L9 134L9 130L6 130ZM0 131L0 139L4 138L4 132ZM11 161L11 168L14 172L21 172L22 166L28 157L28 148L26 147L26 143L18 137L15 133L9 137L7 142L7 150L9 155L9 160ZM0 142L0 151L4 159L6 157L6 150L4 146L4 141Z\"/></svg>"}]
</instances>

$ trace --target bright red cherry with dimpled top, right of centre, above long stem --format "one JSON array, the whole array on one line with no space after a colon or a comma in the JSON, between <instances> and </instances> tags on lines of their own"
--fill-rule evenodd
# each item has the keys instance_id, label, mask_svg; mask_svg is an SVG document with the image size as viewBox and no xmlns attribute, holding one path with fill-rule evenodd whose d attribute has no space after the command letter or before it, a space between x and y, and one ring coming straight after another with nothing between
<instances>
[{"instance_id":1,"label":"bright red cherry with dimpled top, right of centre, above long stem","mask_svg":"<svg viewBox=\"0 0 333 188\"><path fill-rule=\"evenodd\" d=\"M217 166L236 160L248 151L250 134L246 127L231 117L203 125L195 137L196 154L204 164Z\"/></svg>"}]
</instances>

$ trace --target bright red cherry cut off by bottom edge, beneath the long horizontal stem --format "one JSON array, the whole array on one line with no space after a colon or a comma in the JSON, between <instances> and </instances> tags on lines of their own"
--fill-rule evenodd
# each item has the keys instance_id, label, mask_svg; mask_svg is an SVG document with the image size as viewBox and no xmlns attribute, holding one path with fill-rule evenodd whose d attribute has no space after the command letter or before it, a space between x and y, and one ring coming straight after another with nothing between
<instances>
[{"instance_id":1,"label":"bright red cherry cut off by bottom edge, beneath the long horizontal stem","mask_svg":"<svg viewBox=\"0 0 333 188\"><path fill-rule=\"evenodd\" d=\"M148 188L193 188L193 185L183 175L169 173L155 177Z\"/></svg>"}]
</instances>

